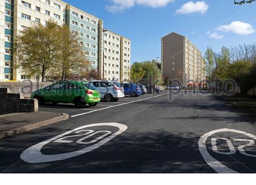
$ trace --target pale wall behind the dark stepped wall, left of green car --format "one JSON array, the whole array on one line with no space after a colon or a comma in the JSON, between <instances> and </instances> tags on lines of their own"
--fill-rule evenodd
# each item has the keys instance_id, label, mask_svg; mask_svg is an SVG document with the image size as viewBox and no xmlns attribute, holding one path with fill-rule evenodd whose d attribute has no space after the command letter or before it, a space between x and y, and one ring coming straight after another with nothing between
<instances>
[{"instance_id":1,"label":"pale wall behind the dark stepped wall, left of green car","mask_svg":"<svg viewBox=\"0 0 256 185\"><path fill-rule=\"evenodd\" d=\"M30 98L31 92L49 86L51 82L0 82L0 88L8 88L9 93L21 94L21 97Z\"/></svg>"}]
</instances>

